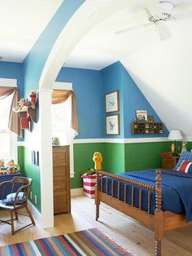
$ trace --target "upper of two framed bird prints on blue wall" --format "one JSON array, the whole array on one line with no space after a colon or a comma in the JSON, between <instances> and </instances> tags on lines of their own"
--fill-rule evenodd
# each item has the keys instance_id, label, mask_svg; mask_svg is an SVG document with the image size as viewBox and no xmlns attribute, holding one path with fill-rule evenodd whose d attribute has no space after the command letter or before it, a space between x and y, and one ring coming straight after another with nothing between
<instances>
[{"instance_id":1,"label":"upper of two framed bird prints on blue wall","mask_svg":"<svg viewBox=\"0 0 192 256\"><path fill-rule=\"evenodd\" d=\"M105 112L118 112L119 104L119 90L111 91L105 95Z\"/></svg>"}]
</instances>

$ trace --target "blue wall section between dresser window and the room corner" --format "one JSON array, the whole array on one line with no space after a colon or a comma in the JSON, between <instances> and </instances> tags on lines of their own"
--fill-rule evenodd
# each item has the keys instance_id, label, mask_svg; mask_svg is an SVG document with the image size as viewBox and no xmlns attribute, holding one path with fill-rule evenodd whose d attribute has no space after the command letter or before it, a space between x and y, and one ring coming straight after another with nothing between
<instances>
[{"instance_id":1,"label":"blue wall section between dresser window and the room corner","mask_svg":"<svg viewBox=\"0 0 192 256\"><path fill-rule=\"evenodd\" d=\"M79 122L77 139L103 138L103 89L99 71L61 68L57 82L72 82Z\"/></svg>"}]
</instances>

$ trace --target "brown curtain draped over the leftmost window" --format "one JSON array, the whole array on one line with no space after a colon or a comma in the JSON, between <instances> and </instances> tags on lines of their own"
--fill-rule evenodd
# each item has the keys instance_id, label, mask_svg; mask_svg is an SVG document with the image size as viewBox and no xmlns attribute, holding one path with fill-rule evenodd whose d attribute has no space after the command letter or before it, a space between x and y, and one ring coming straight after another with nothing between
<instances>
[{"instance_id":1,"label":"brown curtain draped over the leftmost window","mask_svg":"<svg viewBox=\"0 0 192 256\"><path fill-rule=\"evenodd\" d=\"M11 109L9 114L9 130L14 132L19 137L23 138L23 131L20 128L20 117L18 113L12 111L12 108L15 108L18 103L19 93L18 89L15 87L0 87L0 99L5 99L9 95L13 94L13 99L11 103Z\"/></svg>"}]
</instances>

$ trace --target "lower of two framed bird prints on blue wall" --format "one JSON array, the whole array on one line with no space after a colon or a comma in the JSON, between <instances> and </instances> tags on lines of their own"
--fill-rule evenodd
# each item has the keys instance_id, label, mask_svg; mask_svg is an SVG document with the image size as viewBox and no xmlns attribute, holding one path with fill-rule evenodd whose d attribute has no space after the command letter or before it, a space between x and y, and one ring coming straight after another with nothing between
<instances>
[{"instance_id":1,"label":"lower of two framed bird prints on blue wall","mask_svg":"<svg viewBox=\"0 0 192 256\"><path fill-rule=\"evenodd\" d=\"M106 116L106 135L120 135L120 115Z\"/></svg>"}]
</instances>

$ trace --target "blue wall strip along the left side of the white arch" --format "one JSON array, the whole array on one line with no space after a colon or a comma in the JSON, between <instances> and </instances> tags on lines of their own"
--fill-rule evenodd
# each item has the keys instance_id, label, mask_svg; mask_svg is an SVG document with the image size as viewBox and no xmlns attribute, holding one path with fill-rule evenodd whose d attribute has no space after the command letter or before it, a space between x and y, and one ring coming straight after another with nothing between
<instances>
[{"instance_id":1,"label":"blue wall strip along the left side of the white arch","mask_svg":"<svg viewBox=\"0 0 192 256\"><path fill-rule=\"evenodd\" d=\"M28 53L24 60L25 97L28 97L32 89L38 89L42 70L56 39L59 37L59 33L83 2L84 0L63 1L59 10L56 11L50 23L46 26L46 29L44 29L32 50Z\"/></svg>"}]
</instances>

